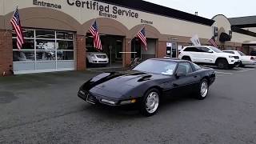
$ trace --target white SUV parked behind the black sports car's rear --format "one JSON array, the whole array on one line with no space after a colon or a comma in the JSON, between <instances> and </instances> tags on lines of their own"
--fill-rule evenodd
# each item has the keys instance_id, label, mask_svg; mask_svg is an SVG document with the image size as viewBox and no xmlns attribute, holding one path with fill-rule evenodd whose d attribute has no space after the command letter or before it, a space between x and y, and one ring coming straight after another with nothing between
<instances>
[{"instance_id":1,"label":"white SUV parked behind the black sports car's rear","mask_svg":"<svg viewBox=\"0 0 256 144\"><path fill-rule=\"evenodd\" d=\"M216 65L219 69L232 69L240 63L238 55L224 53L213 46L186 46L180 51L178 58Z\"/></svg>"}]
</instances>

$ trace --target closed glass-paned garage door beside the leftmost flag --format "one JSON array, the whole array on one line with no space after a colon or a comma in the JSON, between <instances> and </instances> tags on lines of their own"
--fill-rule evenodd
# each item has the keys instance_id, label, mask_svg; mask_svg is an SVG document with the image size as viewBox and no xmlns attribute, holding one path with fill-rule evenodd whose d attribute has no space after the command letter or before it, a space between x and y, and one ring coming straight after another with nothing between
<instances>
[{"instance_id":1,"label":"closed glass-paned garage door beside the leftmost flag","mask_svg":"<svg viewBox=\"0 0 256 144\"><path fill-rule=\"evenodd\" d=\"M13 31L14 72L22 70L74 70L74 33L24 29L25 43L18 50Z\"/></svg>"}]
</instances>

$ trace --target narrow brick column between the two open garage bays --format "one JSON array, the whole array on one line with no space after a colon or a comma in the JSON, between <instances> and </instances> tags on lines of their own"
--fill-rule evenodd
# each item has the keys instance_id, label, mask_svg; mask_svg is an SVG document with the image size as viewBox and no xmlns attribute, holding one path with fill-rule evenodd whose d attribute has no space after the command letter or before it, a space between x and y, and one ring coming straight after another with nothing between
<instances>
[{"instance_id":1,"label":"narrow brick column between the two open garage bays","mask_svg":"<svg viewBox=\"0 0 256 144\"><path fill-rule=\"evenodd\" d=\"M124 52L131 52L131 42L130 39L125 39L124 41ZM130 42L130 43L128 43ZM122 65L124 67L129 66L130 65L130 60L131 60L131 54L130 53L125 53L123 54L123 60L122 60Z\"/></svg>"}]
</instances>

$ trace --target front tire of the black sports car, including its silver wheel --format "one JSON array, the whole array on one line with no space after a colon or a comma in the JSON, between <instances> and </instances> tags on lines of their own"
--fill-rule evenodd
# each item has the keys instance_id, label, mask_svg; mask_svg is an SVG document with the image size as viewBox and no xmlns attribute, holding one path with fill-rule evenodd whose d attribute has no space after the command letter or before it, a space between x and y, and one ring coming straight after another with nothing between
<instances>
[{"instance_id":1,"label":"front tire of the black sports car, including its silver wheel","mask_svg":"<svg viewBox=\"0 0 256 144\"><path fill-rule=\"evenodd\" d=\"M142 98L140 112L146 117L150 117L158 112L160 93L158 89L147 90Z\"/></svg>"}]
</instances>

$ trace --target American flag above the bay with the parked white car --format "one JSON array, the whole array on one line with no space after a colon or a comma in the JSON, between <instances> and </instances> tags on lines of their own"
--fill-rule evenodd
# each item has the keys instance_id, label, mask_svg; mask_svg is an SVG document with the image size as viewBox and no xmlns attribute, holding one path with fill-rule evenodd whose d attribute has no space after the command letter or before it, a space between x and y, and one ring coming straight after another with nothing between
<instances>
[{"instance_id":1,"label":"American flag above the bay with the parked white car","mask_svg":"<svg viewBox=\"0 0 256 144\"><path fill-rule=\"evenodd\" d=\"M92 26L90 26L90 34L94 36L94 47L97 50L102 50L102 42L101 42L101 39L99 38L98 26L96 21Z\"/></svg>"}]
</instances>

